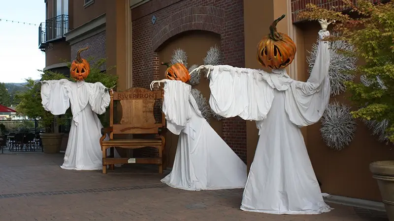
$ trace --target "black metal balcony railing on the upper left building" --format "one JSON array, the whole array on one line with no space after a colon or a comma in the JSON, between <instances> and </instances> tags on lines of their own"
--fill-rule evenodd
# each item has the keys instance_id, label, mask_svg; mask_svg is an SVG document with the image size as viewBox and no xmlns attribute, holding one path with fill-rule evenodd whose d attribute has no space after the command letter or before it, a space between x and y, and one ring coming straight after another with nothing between
<instances>
[{"instance_id":1,"label":"black metal balcony railing on the upper left building","mask_svg":"<svg viewBox=\"0 0 394 221\"><path fill-rule=\"evenodd\" d=\"M38 48L45 49L46 43L64 38L68 29L68 15L58 15L41 23L38 27Z\"/></svg>"}]
</instances>

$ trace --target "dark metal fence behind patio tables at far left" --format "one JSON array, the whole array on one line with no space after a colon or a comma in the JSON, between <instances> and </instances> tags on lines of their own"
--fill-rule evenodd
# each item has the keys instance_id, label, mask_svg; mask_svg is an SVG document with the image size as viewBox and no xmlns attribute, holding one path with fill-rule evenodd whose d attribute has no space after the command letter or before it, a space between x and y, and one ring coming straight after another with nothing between
<instances>
[{"instance_id":1,"label":"dark metal fence behind patio tables at far left","mask_svg":"<svg viewBox=\"0 0 394 221\"><path fill-rule=\"evenodd\" d=\"M0 120L0 129L2 128L8 133L18 131L45 131L44 122L42 120Z\"/></svg>"}]
</instances>

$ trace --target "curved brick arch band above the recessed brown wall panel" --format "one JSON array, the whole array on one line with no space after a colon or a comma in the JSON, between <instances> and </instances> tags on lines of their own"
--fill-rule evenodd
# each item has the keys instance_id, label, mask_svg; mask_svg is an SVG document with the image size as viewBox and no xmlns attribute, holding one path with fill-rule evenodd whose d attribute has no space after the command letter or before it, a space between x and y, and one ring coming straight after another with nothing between
<instances>
[{"instance_id":1,"label":"curved brick arch band above the recessed brown wall panel","mask_svg":"<svg viewBox=\"0 0 394 221\"><path fill-rule=\"evenodd\" d=\"M152 33L152 48L156 52L169 38L188 30L222 33L225 10L217 7L197 6L168 16Z\"/></svg>"}]
</instances>

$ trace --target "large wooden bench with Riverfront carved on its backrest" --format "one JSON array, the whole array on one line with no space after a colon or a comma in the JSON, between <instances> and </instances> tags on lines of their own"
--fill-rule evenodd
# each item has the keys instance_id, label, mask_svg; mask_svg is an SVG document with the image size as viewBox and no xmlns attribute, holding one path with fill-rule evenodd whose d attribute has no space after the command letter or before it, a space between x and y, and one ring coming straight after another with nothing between
<instances>
[{"instance_id":1,"label":"large wooden bench with Riverfront carved on its backrest","mask_svg":"<svg viewBox=\"0 0 394 221\"><path fill-rule=\"evenodd\" d=\"M102 128L100 145L102 150L102 173L107 173L107 165L114 169L115 164L155 164L159 165L159 173L163 173L163 153L165 138L162 135L165 129L165 117L162 113L160 122L156 122L154 106L158 99L164 98L164 91L150 91L145 88L130 88L123 92L110 92L111 102L109 108L109 127ZM114 124L114 101L121 106L121 119ZM160 100L158 101L160 102ZM120 110L120 108L118 108ZM118 112L117 112L118 113ZM109 133L109 140L104 140ZM153 138L114 139L114 134L122 135L151 135ZM159 152L155 158L113 158L107 157L107 149L121 147L137 149L154 147Z\"/></svg>"}]
</instances>

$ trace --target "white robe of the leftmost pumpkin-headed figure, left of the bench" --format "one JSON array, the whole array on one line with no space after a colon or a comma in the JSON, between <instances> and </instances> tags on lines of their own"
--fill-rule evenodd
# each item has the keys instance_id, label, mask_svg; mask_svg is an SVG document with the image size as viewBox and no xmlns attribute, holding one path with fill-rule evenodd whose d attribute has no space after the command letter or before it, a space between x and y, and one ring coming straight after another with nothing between
<instances>
[{"instance_id":1,"label":"white robe of the leftmost pumpkin-headed figure, left of the bench","mask_svg":"<svg viewBox=\"0 0 394 221\"><path fill-rule=\"evenodd\" d=\"M63 169L102 169L99 143L102 124L96 115L105 112L110 102L102 83L70 82L66 79L43 81L42 106L54 115L65 114L70 107L72 123Z\"/></svg>"}]
</instances>

